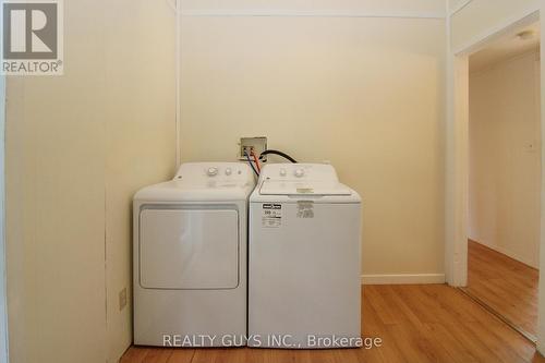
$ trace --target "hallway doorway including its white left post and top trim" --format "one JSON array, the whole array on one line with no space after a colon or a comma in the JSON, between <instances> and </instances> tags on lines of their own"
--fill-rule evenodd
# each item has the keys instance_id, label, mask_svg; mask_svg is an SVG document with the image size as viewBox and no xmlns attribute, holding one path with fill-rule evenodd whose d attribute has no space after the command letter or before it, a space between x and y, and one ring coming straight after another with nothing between
<instances>
[{"instance_id":1,"label":"hallway doorway including its white left post and top trim","mask_svg":"<svg viewBox=\"0 0 545 363\"><path fill-rule=\"evenodd\" d=\"M545 191L538 21L538 11L510 21L452 55L447 147L447 279L533 341Z\"/></svg>"}]
</instances>

